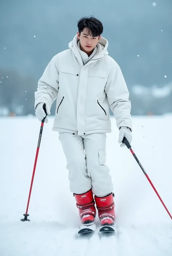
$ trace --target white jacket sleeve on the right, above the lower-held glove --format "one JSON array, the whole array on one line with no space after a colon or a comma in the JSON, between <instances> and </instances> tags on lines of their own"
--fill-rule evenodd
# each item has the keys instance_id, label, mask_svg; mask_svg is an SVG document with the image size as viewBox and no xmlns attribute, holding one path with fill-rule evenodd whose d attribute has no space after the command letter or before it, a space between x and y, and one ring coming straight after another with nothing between
<instances>
[{"instance_id":1,"label":"white jacket sleeve on the right, above the lower-held glove","mask_svg":"<svg viewBox=\"0 0 172 256\"><path fill-rule=\"evenodd\" d=\"M107 100L116 119L116 126L128 126L132 130L129 92L119 65L114 62L105 86Z\"/></svg>"}]
</instances>

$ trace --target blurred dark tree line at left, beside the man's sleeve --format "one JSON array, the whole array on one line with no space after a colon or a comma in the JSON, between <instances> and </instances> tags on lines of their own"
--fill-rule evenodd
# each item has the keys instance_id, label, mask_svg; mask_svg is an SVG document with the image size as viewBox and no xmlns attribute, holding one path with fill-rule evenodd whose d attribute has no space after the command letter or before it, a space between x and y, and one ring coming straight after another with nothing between
<instances>
[{"instance_id":1,"label":"blurred dark tree line at left, beside the man's sleeve","mask_svg":"<svg viewBox=\"0 0 172 256\"><path fill-rule=\"evenodd\" d=\"M0 116L34 114L35 78L0 69Z\"/></svg>"}]
</instances>

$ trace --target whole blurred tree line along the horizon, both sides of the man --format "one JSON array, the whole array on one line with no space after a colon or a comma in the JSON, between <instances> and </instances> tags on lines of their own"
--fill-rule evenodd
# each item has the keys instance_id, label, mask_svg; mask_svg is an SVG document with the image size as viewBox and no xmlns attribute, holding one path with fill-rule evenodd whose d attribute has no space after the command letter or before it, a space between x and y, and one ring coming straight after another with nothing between
<instances>
[{"instance_id":1,"label":"whole blurred tree line along the horizon, both sides of the man","mask_svg":"<svg viewBox=\"0 0 172 256\"><path fill-rule=\"evenodd\" d=\"M0 69L0 116L34 115L37 79L13 69ZM129 89L132 115L172 113L172 82L159 86L133 85ZM55 113L55 102L51 114ZM112 113L111 113L112 114Z\"/></svg>"}]
</instances>

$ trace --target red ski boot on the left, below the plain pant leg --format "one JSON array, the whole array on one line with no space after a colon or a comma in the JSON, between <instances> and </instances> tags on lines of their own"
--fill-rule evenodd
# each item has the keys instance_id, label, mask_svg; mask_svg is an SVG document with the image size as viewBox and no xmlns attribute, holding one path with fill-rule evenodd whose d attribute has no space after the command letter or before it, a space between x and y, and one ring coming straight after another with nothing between
<instances>
[{"instance_id":1,"label":"red ski boot on the left, below the plain pant leg","mask_svg":"<svg viewBox=\"0 0 172 256\"><path fill-rule=\"evenodd\" d=\"M79 216L82 225L92 225L95 222L95 201L93 198L93 193L91 189L84 194L75 194L75 199L77 201L76 206L79 209Z\"/></svg>"}]
</instances>

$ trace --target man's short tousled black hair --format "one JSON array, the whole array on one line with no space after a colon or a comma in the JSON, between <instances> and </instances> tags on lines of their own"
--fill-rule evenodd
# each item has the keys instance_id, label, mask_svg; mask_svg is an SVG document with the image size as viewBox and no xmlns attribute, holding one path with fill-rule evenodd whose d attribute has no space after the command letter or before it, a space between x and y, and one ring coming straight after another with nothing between
<instances>
[{"instance_id":1,"label":"man's short tousled black hair","mask_svg":"<svg viewBox=\"0 0 172 256\"><path fill-rule=\"evenodd\" d=\"M85 28L87 29L87 34L90 36L100 36L103 33L103 25L101 21L93 16L83 17L78 21L79 34L81 34Z\"/></svg>"}]
</instances>

